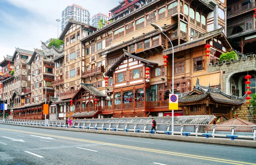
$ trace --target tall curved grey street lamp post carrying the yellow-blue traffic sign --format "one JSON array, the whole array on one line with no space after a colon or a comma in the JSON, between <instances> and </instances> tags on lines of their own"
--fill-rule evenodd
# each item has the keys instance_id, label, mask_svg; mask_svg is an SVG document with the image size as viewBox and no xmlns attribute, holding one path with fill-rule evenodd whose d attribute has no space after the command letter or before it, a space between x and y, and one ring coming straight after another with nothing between
<instances>
[{"instance_id":1,"label":"tall curved grey street lamp post carrying the yellow-blue traffic sign","mask_svg":"<svg viewBox=\"0 0 256 165\"><path fill-rule=\"evenodd\" d=\"M164 36L166 36L166 38L168 38L168 40L170 41L171 45L172 45L172 41L170 40L169 37L167 37L166 34L164 34L163 29L161 28L161 26L155 24L155 23L150 23L151 26L153 26L155 29L157 29L159 32L163 33ZM172 45L172 94L174 94L174 49L173 49L173 45ZM172 110L172 135L174 135L173 130L174 130L174 111Z\"/></svg>"}]
</instances>

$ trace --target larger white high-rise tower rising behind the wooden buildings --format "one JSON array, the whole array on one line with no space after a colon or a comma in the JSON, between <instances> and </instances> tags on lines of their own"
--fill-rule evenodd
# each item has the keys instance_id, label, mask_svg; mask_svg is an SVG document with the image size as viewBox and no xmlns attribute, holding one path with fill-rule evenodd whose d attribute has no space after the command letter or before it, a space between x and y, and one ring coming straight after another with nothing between
<instances>
[{"instance_id":1,"label":"larger white high-rise tower rising behind the wooden buildings","mask_svg":"<svg viewBox=\"0 0 256 165\"><path fill-rule=\"evenodd\" d=\"M67 6L61 13L61 30L65 28L70 19L90 25L90 12L82 6L73 4Z\"/></svg>"}]
</instances>

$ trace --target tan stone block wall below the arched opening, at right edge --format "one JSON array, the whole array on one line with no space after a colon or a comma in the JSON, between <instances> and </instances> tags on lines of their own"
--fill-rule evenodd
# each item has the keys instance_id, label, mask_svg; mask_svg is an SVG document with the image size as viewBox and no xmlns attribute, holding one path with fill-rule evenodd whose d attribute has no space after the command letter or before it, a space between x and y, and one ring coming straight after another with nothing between
<instances>
[{"instance_id":1,"label":"tan stone block wall below the arched opening, at right edge","mask_svg":"<svg viewBox=\"0 0 256 165\"><path fill-rule=\"evenodd\" d=\"M253 115L252 110L248 108L246 103L242 104L242 107L236 110L236 114L238 114L238 118L240 119L256 123L256 115Z\"/></svg>"}]
</instances>

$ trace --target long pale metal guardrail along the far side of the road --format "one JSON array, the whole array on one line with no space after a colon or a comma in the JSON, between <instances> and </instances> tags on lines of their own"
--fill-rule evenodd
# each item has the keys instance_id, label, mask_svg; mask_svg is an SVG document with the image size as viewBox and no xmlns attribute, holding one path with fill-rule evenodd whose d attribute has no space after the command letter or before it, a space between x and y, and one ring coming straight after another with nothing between
<instances>
[{"instance_id":1,"label":"long pale metal guardrail along the far side of the road","mask_svg":"<svg viewBox=\"0 0 256 165\"><path fill-rule=\"evenodd\" d=\"M44 124L44 120L24 120L24 119L0 119L0 123L28 124L46 127L66 127L65 120L51 120L49 124ZM127 123L127 122L81 122L73 121L73 128L94 129L94 130L113 130L125 132L151 132L151 123ZM172 124L158 123L156 132L171 134ZM256 125L209 125L209 124L174 124L175 135L180 136L204 136L206 138L231 138L256 140Z\"/></svg>"}]
</instances>

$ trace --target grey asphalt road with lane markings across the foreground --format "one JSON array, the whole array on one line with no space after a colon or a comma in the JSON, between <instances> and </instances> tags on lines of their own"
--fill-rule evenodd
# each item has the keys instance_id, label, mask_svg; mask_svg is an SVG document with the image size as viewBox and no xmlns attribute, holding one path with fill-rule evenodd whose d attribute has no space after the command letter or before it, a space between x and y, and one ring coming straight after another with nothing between
<instances>
[{"instance_id":1,"label":"grey asphalt road with lane markings across the foreground","mask_svg":"<svg viewBox=\"0 0 256 165\"><path fill-rule=\"evenodd\" d=\"M223 164L256 165L256 149L0 124L0 165Z\"/></svg>"}]
</instances>

